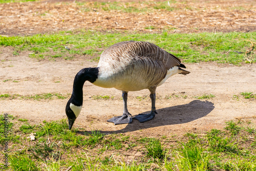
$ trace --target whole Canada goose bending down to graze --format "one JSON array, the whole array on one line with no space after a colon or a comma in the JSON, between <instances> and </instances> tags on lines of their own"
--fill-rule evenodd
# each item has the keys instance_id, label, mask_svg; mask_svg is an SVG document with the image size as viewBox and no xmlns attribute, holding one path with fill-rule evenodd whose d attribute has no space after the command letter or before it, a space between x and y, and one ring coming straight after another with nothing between
<instances>
[{"instance_id":1,"label":"whole Canada goose bending down to graze","mask_svg":"<svg viewBox=\"0 0 256 171\"><path fill-rule=\"evenodd\" d=\"M85 81L103 88L116 88L122 91L123 115L109 119L115 124L131 123L132 119L140 122L155 117L156 88L167 78L175 74L189 74L179 58L158 46L145 41L123 41L112 45L102 52L98 67L80 70L74 79L73 92L66 105L69 129L81 112ZM127 93L129 91L150 90L152 108L150 114L135 117L127 110Z\"/></svg>"}]
</instances>

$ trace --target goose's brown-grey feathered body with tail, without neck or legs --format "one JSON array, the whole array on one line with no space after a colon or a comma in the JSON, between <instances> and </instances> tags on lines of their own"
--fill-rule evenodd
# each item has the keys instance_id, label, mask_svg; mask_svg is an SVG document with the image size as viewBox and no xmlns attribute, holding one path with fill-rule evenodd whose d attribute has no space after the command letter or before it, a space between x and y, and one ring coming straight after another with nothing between
<instances>
[{"instance_id":1,"label":"goose's brown-grey feathered body with tail, without neck or legs","mask_svg":"<svg viewBox=\"0 0 256 171\"><path fill-rule=\"evenodd\" d=\"M123 41L103 51L93 84L122 91L139 91L160 86L177 73L188 74L175 55L144 41Z\"/></svg>"}]
</instances>

